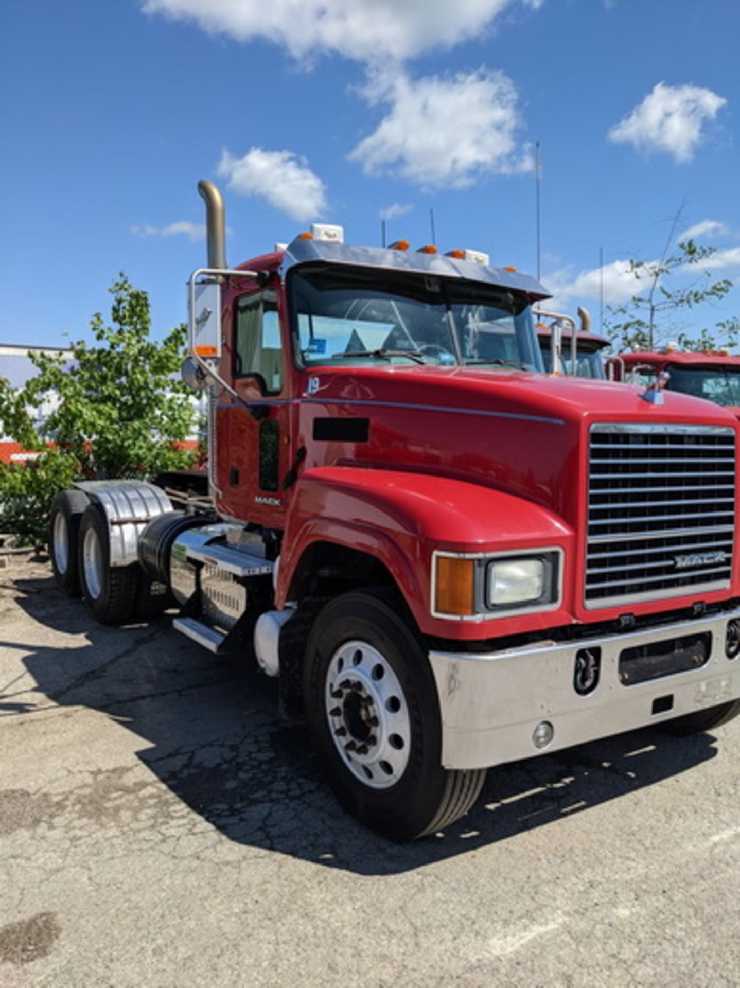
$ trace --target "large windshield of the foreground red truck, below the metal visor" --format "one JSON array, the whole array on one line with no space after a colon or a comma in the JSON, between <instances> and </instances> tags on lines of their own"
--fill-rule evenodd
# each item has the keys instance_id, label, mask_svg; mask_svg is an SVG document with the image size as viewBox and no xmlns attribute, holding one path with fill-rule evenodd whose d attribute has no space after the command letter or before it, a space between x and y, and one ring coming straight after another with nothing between
<instances>
[{"instance_id":1,"label":"large windshield of the foreground red truck, below the metal visor","mask_svg":"<svg viewBox=\"0 0 740 988\"><path fill-rule=\"evenodd\" d=\"M525 295L381 269L304 266L289 276L303 367L504 366L541 371Z\"/></svg>"}]
</instances>

